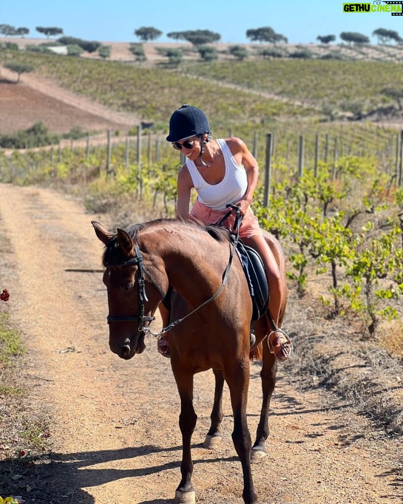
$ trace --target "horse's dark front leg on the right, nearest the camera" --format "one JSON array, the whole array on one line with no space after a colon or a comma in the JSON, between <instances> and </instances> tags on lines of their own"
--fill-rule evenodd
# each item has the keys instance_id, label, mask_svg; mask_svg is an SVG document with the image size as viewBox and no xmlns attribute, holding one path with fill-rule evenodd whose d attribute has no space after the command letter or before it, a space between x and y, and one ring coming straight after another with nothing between
<instances>
[{"instance_id":1,"label":"horse's dark front leg on the right, nearest the camera","mask_svg":"<svg viewBox=\"0 0 403 504\"><path fill-rule=\"evenodd\" d=\"M252 471L250 468L252 442L246 420L246 403L248 400L249 387L249 355L246 355L244 361L240 362L239 365L233 366L230 373L225 369L224 377L230 389L232 411L234 413L232 440L242 465L242 497L245 504L255 504L257 502L257 495L253 486Z\"/></svg>"}]
</instances>

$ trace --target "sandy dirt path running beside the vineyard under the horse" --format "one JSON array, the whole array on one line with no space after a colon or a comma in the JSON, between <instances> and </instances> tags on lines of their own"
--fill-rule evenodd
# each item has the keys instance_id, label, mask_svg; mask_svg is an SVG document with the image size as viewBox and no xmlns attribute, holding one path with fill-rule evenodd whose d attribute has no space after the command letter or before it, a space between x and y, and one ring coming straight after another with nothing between
<instances>
[{"instance_id":1,"label":"sandy dirt path running beside the vineyard under the horse","mask_svg":"<svg viewBox=\"0 0 403 504\"><path fill-rule=\"evenodd\" d=\"M39 465L46 503L165 504L179 482L178 395L169 360L154 339L122 361L107 342L107 302L99 268L102 245L86 214L66 196L35 187L0 185L0 225L15 252L11 313L31 358L38 407L49 407L54 454ZM156 324L157 328L159 324ZM292 327L288 326L290 329ZM66 351L74 347L75 351ZM269 455L253 465L259 503L395 503L402 495L390 454L397 441L373 430L349 405L320 391L303 393L292 366L280 369L273 399ZM254 363L249 428L260 411L260 365ZM209 425L213 374L196 375L193 483L198 502L241 504L241 467L231 442L225 390L224 442L201 448ZM25 502L44 502L43 499Z\"/></svg>"}]
</instances>

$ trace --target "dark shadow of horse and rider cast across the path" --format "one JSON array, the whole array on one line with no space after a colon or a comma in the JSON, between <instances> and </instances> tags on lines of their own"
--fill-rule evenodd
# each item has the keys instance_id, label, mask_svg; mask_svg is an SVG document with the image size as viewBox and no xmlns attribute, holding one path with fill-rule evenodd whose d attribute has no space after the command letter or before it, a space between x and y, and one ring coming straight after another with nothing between
<instances>
[{"instance_id":1,"label":"dark shadow of horse and rider cast across the path","mask_svg":"<svg viewBox=\"0 0 403 504\"><path fill-rule=\"evenodd\" d=\"M200 448L201 444L194 444L192 448ZM107 464L124 459L135 459L154 453L178 452L173 455L172 462L164 462L151 467L141 467L137 469L116 469L111 467L99 467L97 465ZM159 446L147 445L139 448L122 448L119 450L100 450L89 452L77 452L69 454L53 453L46 463L42 460L33 460L31 468L22 470L21 464L18 470L11 469L10 463L0 463L0 475L11 473L22 475L17 481L10 478L8 487L4 487L4 492L8 495L19 495L25 502L47 502L48 504L60 502L80 502L81 504L93 504L94 497L83 490L104 485L111 481L117 481L123 478L139 478L157 474L168 469L180 467L182 447L175 446L170 448L161 448ZM194 463L208 463L216 461L216 458L194 460ZM227 457L229 462L237 461L237 457ZM178 473L179 474L179 473ZM30 488L29 493L27 487ZM33 500L34 499L34 500ZM145 504L165 504L171 502L171 499L143 501Z\"/></svg>"}]
</instances>

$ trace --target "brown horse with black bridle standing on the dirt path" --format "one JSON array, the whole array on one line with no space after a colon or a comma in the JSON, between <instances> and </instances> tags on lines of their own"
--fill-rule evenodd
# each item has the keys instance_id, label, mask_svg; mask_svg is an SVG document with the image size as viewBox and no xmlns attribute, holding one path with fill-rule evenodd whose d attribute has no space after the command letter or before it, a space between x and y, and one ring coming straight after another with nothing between
<instances>
[{"instance_id":1,"label":"brown horse with black bridle standing on the dirt path","mask_svg":"<svg viewBox=\"0 0 403 504\"><path fill-rule=\"evenodd\" d=\"M191 482L191 436L197 416L193 409L193 375L213 369L216 377L211 428L206 443L220 438L223 418L221 399L224 379L228 384L234 415L232 439L241 460L243 499L257 500L251 473L251 457L265 456L268 437L268 409L275 388L277 364L267 343L263 344L261 371L263 404L256 440L251 446L246 421L249 386L250 320L252 302L240 261L233 258L228 281L219 295L204 304L220 289L229 263L232 244L224 228L202 227L190 221L156 220L137 224L117 234L109 233L99 223L92 223L96 235L105 244L104 283L109 303L109 346L123 359L130 359L145 349L145 333L153 315L168 290L174 287L172 319L181 320L169 332L171 365L181 400L179 426L182 432L182 479L175 492L176 503L193 503ZM286 304L285 260L278 241L268 233L265 238L279 265ZM199 309L196 309L199 308ZM186 315L195 310L186 318ZM263 317L255 324L256 348L268 333ZM253 349L252 348L252 349Z\"/></svg>"}]
</instances>

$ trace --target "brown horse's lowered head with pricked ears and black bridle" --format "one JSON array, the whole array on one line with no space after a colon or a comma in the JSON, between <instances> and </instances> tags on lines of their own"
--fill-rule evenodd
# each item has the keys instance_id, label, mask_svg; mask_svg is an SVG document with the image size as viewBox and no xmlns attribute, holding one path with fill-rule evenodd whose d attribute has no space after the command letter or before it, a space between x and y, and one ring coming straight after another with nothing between
<instances>
[{"instance_id":1,"label":"brown horse's lowered head with pricked ears and black bridle","mask_svg":"<svg viewBox=\"0 0 403 504\"><path fill-rule=\"evenodd\" d=\"M162 260L140 250L137 238L143 226L112 234L98 222L92 225L105 244L103 282L108 291L109 347L122 359L130 359L146 348L145 329L168 289L168 278Z\"/></svg>"}]
</instances>

